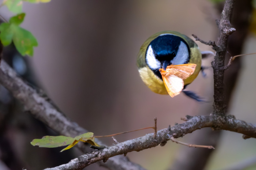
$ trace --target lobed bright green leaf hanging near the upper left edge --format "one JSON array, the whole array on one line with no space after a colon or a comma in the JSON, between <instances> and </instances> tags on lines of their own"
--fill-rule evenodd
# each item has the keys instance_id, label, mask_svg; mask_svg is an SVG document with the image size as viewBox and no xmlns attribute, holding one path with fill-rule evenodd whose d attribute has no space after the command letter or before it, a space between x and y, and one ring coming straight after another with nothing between
<instances>
[{"instance_id":1,"label":"lobed bright green leaf hanging near the upper left edge","mask_svg":"<svg viewBox=\"0 0 256 170\"><path fill-rule=\"evenodd\" d=\"M27 30L19 27L25 14L18 14L10 18L9 23L0 24L0 40L4 46L11 44L11 40L20 54L33 55L33 47L38 46L37 39Z\"/></svg>"}]
</instances>

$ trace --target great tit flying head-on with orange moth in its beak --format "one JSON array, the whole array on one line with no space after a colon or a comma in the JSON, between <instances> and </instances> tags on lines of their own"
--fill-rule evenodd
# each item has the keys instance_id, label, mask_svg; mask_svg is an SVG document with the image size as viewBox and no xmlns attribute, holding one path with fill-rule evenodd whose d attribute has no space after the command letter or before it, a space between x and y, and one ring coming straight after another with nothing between
<instances>
[{"instance_id":1,"label":"great tit flying head-on with orange moth in its beak","mask_svg":"<svg viewBox=\"0 0 256 170\"><path fill-rule=\"evenodd\" d=\"M194 92L183 90L197 77L201 69L201 60L202 54L192 39L176 31L162 31L149 37L141 46L137 66L142 81L153 92L162 95L169 92L169 95L174 97L183 91L187 96L203 101ZM185 71L182 68L185 68ZM172 71L168 73L168 69ZM186 70L191 72L183 76ZM169 82L169 78L165 77L167 74L172 76ZM178 92L170 94L172 88Z\"/></svg>"}]
</instances>

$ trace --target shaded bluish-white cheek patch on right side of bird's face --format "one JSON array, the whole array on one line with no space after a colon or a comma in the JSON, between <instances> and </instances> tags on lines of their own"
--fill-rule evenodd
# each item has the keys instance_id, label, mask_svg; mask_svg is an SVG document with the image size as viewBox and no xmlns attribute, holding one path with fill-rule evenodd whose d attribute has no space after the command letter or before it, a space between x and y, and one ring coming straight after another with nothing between
<instances>
[{"instance_id":1,"label":"shaded bluish-white cheek patch on right side of bird's face","mask_svg":"<svg viewBox=\"0 0 256 170\"><path fill-rule=\"evenodd\" d=\"M188 49L185 43L181 41L181 44L179 46L179 50L176 54L176 56L173 58L171 63L173 65L179 65L179 64L184 64L188 60L189 54L188 54Z\"/></svg>"}]
</instances>

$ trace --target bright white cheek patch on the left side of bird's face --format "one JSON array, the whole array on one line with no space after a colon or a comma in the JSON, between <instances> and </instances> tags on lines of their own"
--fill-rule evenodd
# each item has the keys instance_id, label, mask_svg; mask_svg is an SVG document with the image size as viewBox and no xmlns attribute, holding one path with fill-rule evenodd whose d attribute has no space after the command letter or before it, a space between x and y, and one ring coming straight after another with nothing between
<instances>
[{"instance_id":1,"label":"bright white cheek patch on the left side of bird's face","mask_svg":"<svg viewBox=\"0 0 256 170\"><path fill-rule=\"evenodd\" d=\"M150 46L148 46L147 52L146 52L146 63L151 69L159 69L161 68L161 63L156 60L156 56L154 54L154 51Z\"/></svg>"}]
</instances>

